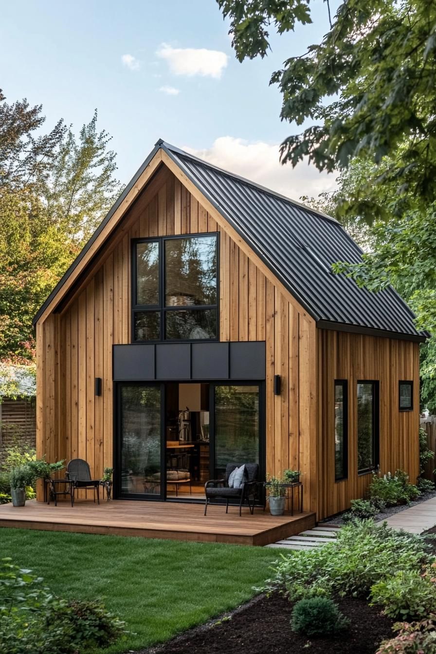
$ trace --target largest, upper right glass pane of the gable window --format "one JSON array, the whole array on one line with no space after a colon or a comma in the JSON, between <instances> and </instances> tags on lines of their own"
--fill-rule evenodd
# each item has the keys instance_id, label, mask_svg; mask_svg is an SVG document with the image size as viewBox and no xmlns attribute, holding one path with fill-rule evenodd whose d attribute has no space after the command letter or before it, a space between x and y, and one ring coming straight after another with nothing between
<instances>
[{"instance_id":1,"label":"largest, upper right glass pane of the gable window","mask_svg":"<svg viewBox=\"0 0 436 654\"><path fill-rule=\"evenodd\" d=\"M216 236L165 241L165 305L216 304Z\"/></svg>"}]
</instances>

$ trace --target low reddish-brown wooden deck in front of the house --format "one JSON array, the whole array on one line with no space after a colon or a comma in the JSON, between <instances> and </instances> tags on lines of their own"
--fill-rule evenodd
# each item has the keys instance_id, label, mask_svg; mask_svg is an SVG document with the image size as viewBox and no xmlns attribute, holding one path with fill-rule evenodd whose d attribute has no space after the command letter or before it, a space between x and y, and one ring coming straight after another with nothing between
<instances>
[{"instance_id":1,"label":"low reddish-brown wooden deck in front of the house","mask_svg":"<svg viewBox=\"0 0 436 654\"><path fill-rule=\"evenodd\" d=\"M180 502L113 500L97 505L78 500L71 508L67 502L48 506L27 500L23 507L0 506L0 527L268 545L315 525L314 513L272 516L256 508L250 515L244 508L239 517L236 507L226 515L224 506L209 506L205 517L203 511L203 504Z\"/></svg>"}]
</instances>

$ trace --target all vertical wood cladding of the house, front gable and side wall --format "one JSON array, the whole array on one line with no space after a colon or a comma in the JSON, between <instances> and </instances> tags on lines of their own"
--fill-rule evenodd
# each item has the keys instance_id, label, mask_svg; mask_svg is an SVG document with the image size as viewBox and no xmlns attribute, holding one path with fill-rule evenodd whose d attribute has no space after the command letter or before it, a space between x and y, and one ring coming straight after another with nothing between
<instances>
[{"instance_id":1,"label":"all vertical wood cladding of the house, front gable and side wall","mask_svg":"<svg viewBox=\"0 0 436 654\"><path fill-rule=\"evenodd\" d=\"M112 345L131 339L131 239L218 232L220 341L265 341L266 468L303 472L305 510L318 517L364 494L358 477L357 379L380 380L382 466L417 472L418 345L409 341L316 330L314 320L275 281L241 237L183 175L163 166L125 207L118 227L92 265L71 284L61 313L37 325L37 441L49 460L80 456L94 476L113 466ZM273 392L280 375L280 396ZM94 379L103 394L94 394ZM335 484L332 458L333 382L350 383L349 481ZM413 379L416 411L397 411L399 379ZM333 472L332 472L333 471ZM333 474L333 481L332 481ZM40 497L40 494L39 494Z\"/></svg>"}]
</instances>

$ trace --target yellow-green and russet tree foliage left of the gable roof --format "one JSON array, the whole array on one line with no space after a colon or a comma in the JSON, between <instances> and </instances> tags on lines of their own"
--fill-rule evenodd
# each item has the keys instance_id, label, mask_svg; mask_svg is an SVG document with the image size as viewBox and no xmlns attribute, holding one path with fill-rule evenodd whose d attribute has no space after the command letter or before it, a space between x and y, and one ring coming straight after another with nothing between
<instances>
[{"instance_id":1,"label":"yellow-green and russet tree foliage left of the gable roof","mask_svg":"<svg viewBox=\"0 0 436 654\"><path fill-rule=\"evenodd\" d=\"M75 137L0 92L0 360L32 360L31 320L120 192L97 112Z\"/></svg>"}]
</instances>

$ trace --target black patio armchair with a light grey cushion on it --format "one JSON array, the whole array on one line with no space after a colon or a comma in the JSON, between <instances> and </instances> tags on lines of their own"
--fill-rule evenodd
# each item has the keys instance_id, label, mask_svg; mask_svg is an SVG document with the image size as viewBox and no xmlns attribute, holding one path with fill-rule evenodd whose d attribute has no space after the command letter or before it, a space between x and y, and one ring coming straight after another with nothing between
<instances>
[{"instance_id":1,"label":"black patio armchair with a light grey cushion on it","mask_svg":"<svg viewBox=\"0 0 436 654\"><path fill-rule=\"evenodd\" d=\"M226 513L229 510L229 500L239 500L239 515L244 502L247 502L250 513L254 513L254 504L256 502L256 492L259 487L259 466L257 463L246 463L243 483L239 488L229 488L229 477L235 468L241 468L243 464L227 463L226 478L225 479L209 479L205 483L205 515L207 512L207 505L210 500L226 500ZM252 498L252 503L250 502Z\"/></svg>"}]
</instances>

